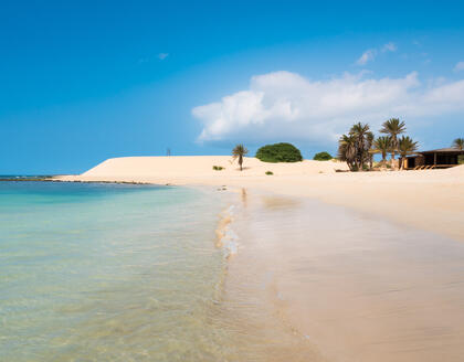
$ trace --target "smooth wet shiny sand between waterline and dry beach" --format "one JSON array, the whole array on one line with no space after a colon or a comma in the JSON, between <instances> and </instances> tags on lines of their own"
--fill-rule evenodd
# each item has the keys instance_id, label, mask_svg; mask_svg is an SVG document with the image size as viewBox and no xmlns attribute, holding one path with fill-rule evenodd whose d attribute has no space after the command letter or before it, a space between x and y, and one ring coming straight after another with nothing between
<instances>
[{"instance_id":1,"label":"smooth wet shiny sand between waterline and dry beach","mask_svg":"<svg viewBox=\"0 0 464 362\"><path fill-rule=\"evenodd\" d=\"M291 360L462 361L464 244L310 200L246 200L228 292L254 294L263 319L307 341Z\"/></svg>"}]
</instances>

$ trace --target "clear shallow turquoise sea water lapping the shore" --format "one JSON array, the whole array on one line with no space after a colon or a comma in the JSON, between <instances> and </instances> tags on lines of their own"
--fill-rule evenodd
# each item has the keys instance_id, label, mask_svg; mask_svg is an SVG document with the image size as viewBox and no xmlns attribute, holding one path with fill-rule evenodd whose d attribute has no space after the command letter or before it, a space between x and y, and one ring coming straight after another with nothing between
<instances>
[{"instance_id":1,"label":"clear shallow turquoise sea water lapping the shore","mask_svg":"<svg viewBox=\"0 0 464 362\"><path fill-rule=\"evenodd\" d=\"M0 361L221 361L215 194L0 182Z\"/></svg>"}]
</instances>

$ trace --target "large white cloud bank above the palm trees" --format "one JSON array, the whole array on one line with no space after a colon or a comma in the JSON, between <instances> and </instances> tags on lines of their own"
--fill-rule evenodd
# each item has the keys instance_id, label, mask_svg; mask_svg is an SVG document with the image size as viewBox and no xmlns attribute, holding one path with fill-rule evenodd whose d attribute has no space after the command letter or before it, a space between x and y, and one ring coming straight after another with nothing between
<instances>
[{"instance_id":1,"label":"large white cloud bank above the palm trees","mask_svg":"<svg viewBox=\"0 0 464 362\"><path fill-rule=\"evenodd\" d=\"M331 142L355 121L372 127L387 118L408 121L464 111L464 79L423 85L415 72L401 78L366 73L312 81L296 73L253 76L250 88L192 109L200 141L302 140Z\"/></svg>"}]
</instances>

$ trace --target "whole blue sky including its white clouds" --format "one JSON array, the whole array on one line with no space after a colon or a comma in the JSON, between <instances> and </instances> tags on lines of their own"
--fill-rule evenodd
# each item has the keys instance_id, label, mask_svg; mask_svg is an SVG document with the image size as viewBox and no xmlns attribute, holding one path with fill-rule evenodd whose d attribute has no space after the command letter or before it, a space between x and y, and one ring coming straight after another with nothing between
<instances>
[{"instance_id":1,"label":"whole blue sky including its white clouds","mask_svg":"<svg viewBox=\"0 0 464 362\"><path fill-rule=\"evenodd\" d=\"M464 1L0 2L0 174L336 152L357 121L464 137Z\"/></svg>"}]
</instances>

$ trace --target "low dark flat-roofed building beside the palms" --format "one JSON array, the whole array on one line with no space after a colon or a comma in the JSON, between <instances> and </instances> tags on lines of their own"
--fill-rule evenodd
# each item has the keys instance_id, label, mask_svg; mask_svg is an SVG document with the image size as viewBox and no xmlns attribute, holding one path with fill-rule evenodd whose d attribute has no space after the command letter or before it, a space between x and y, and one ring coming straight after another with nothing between
<instances>
[{"instance_id":1,"label":"low dark flat-roofed building beside the palms","mask_svg":"<svg viewBox=\"0 0 464 362\"><path fill-rule=\"evenodd\" d=\"M416 152L405 159L404 169L446 169L460 164L460 156L464 150L457 148L441 148L437 150Z\"/></svg>"}]
</instances>

